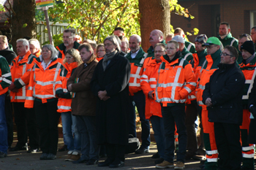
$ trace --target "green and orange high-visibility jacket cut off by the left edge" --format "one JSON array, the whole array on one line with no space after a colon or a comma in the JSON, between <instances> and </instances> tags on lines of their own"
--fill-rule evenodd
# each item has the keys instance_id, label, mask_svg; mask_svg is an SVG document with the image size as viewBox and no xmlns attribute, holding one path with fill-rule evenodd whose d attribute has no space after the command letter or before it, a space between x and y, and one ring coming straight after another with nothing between
<instances>
[{"instance_id":1,"label":"green and orange high-visibility jacket cut off by the left edge","mask_svg":"<svg viewBox=\"0 0 256 170\"><path fill-rule=\"evenodd\" d=\"M0 95L7 93L8 86L12 83L12 74L10 72L7 60L0 55Z\"/></svg>"}]
</instances>

